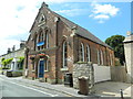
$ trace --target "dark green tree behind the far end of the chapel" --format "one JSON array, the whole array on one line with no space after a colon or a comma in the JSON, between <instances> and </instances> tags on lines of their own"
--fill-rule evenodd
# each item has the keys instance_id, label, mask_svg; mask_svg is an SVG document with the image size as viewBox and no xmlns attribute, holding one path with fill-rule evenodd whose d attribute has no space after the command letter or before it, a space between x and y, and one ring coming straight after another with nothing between
<instances>
[{"instance_id":1,"label":"dark green tree behind the far end of the chapel","mask_svg":"<svg viewBox=\"0 0 133 99\"><path fill-rule=\"evenodd\" d=\"M123 45L124 38L125 37L122 35L113 35L105 40L105 43L114 50L114 55L120 59L121 65L123 65L123 62L125 62Z\"/></svg>"}]
</instances>

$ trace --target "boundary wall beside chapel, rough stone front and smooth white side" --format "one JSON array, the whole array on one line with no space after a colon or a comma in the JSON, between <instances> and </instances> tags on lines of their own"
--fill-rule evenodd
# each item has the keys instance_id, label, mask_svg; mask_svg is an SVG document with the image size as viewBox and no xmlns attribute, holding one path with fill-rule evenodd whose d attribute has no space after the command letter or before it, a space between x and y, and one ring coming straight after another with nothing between
<instances>
[{"instance_id":1,"label":"boundary wall beside chapel, rough stone front and smooth white side","mask_svg":"<svg viewBox=\"0 0 133 99\"><path fill-rule=\"evenodd\" d=\"M94 82L111 80L110 66L98 66L96 64L93 64L93 70L91 70L91 66L92 64L74 64L73 65L73 87L74 88L76 89L79 88L78 78L81 76L89 77L89 85L90 82L94 84Z\"/></svg>"}]
</instances>

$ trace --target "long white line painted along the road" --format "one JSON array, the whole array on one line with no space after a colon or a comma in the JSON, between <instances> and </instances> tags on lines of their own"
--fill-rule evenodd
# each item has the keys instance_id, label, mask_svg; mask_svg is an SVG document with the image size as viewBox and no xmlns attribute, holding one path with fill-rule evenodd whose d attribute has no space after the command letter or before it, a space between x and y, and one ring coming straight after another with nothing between
<instances>
[{"instance_id":1,"label":"long white line painted along the road","mask_svg":"<svg viewBox=\"0 0 133 99\"><path fill-rule=\"evenodd\" d=\"M4 79L2 79L2 78L0 78L0 79L1 79L1 80L4 80ZM4 81L7 81L7 80L4 80ZM19 85L19 84L13 82L13 81L8 81L8 82L11 82L11 84L14 84L14 85L24 87L24 88L29 88L29 89L35 90L35 91L39 91L39 92L41 92L41 94L49 95L49 96L51 96L51 97L59 96L59 95L52 95L52 94L49 94L49 92L45 92L45 91L41 91L41 90L34 89L34 88L31 88L31 87L27 87L27 86L23 86L23 85Z\"/></svg>"}]
</instances>

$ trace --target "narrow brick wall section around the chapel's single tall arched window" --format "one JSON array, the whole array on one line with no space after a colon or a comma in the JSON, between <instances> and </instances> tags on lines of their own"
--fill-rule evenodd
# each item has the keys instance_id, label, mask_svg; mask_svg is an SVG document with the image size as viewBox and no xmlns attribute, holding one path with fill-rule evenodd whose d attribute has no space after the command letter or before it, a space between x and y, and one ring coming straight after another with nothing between
<instances>
[{"instance_id":1,"label":"narrow brick wall section around the chapel's single tall arched window","mask_svg":"<svg viewBox=\"0 0 133 99\"><path fill-rule=\"evenodd\" d=\"M71 30L60 20L58 22L58 51L57 51L57 67L58 67L58 78L63 80L65 73L72 73L73 67L73 37L70 36ZM61 70L62 68L62 50L63 42L66 41L68 46L68 70ZM71 62L72 61L72 62Z\"/></svg>"}]
</instances>

